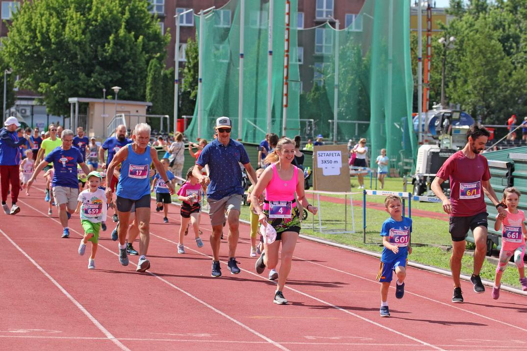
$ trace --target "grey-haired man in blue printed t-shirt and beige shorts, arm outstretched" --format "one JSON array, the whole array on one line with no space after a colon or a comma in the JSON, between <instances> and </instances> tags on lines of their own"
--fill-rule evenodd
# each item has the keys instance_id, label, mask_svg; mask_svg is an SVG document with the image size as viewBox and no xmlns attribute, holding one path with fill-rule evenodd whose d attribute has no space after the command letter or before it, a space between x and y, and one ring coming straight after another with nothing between
<instances>
[{"instance_id":1,"label":"grey-haired man in blue printed t-shirt and beige shorts, arm outstretched","mask_svg":"<svg viewBox=\"0 0 527 351\"><path fill-rule=\"evenodd\" d=\"M70 229L67 226L67 221L71 217L71 213L75 212L79 198L79 181L77 180L77 164L79 164L84 171L84 174L89 174L90 169L82 159L81 151L72 147L73 131L65 129L62 131L62 145L53 149L48 153L44 161L38 164L33 176L27 182L31 186L38 173L53 162L55 170L53 176L53 198L58 208L58 218L63 227L63 238L70 237Z\"/></svg>"}]
</instances>

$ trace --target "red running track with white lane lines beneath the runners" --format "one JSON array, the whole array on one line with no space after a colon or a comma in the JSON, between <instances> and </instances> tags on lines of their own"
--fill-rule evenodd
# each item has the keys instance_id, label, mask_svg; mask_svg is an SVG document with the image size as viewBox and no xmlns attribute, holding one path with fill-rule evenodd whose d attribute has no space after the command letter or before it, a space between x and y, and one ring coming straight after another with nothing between
<instances>
[{"instance_id":1,"label":"red running track with white lane lines beneath the runners","mask_svg":"<svg viewBox=\"0 0 527 351\"><path fill-rule=\"evenodd\" d=\"M205 246L197 249L191 231L178 255L175 206L168 225L152 212L149 272L135 272L137 256L119 264L111 220L88 270L78 216L61 239L39 186L0 221L0 350L527 349L523 296L502 291L494 301L490 289L477 295L463 281L465 304L452 304L451 278L408 268L404 298L392 287L392 317L380 318L378 259L302 239L284 291L290 304L273 304L275 283L248 257L249 226L240 225L241 274L227 270L222 240L223 277L212 278L207 215Z\"/></svg>"}]
</instances>

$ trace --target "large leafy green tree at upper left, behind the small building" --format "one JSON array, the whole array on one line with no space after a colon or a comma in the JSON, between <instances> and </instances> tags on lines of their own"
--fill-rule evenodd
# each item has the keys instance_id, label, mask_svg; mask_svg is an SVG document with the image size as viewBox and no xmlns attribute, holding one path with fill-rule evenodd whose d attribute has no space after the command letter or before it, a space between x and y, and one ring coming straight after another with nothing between
<instances>
[{"instance_id":1,"label":"large leafy green tree at upper left, behind the small building","mask_svg":"<svg viewBox=\"0 0 527 351\"><path fill-rule=\"evenodd\" d=\"M162 35L145 0L24 2L13 15L5 60L52 114L70 113L72 96L99 98L119 85L123 100L145 99L148 64L164 60Z\"/></svg>"}]
</instances>

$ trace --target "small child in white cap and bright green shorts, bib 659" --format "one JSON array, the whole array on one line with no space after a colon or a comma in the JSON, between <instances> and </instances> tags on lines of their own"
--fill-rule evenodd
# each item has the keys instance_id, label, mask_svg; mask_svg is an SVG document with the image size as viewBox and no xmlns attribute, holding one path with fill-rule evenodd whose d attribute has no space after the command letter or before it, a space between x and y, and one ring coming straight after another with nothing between
<instances>
[{"instance_id":1,"label":"small child in white cap and bright green shorts, bib 659","mask_svg":"<svg viewBox=\"0 0 527 351\"><path fill-rule=\"evenodd\" d=\"M79 204L75 209L75 213L81 213L81 224L84 229L84 238L82 238L79 246L79 255L84 255L86 244L88 241L92 242L92 255L88 269L95 269L95 253L99 242L101 222L106 220L108 198L106 198L104 190L99 188L101 181L101 173L93 171L88 174L87 189L79 194Z\"/></svg>"}]
</instances>

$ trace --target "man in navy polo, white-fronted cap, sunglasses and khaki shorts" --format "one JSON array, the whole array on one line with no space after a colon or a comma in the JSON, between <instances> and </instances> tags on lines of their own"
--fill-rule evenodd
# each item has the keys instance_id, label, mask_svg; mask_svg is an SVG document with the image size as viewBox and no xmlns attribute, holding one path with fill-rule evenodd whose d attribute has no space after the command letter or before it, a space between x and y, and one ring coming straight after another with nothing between
<instances>
[{"instance_id":1,"label":"man in navy polo, white-fronted cap, sunglasses and khaki shorts","mask_svg":"<svg viewBox=\"0 0 527 351\"><path fill-rule=\"evenodd\" d=\"M242 173L240 163L245 167L252 184L256 184L256 172L249 163L249 156L243 144L232 140L230 132L232 123L228 117L216 120L218 139L213 140L203 148L196 161L192 176L199 183L209 184L207 202L209 203L209 217L212 225L210 246L212 247L212 276L221 277L220 269L220 238L225 225L225 212L229 223L229 262L227 268L231 274L239 274L240 269L236 264L236 246L238 243L238 226L243 196ZM209 165L209 177L203 176L201 170Z\"/></svg>"}]
</instances>

